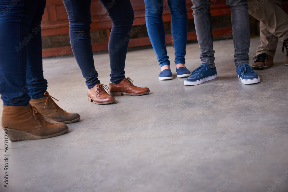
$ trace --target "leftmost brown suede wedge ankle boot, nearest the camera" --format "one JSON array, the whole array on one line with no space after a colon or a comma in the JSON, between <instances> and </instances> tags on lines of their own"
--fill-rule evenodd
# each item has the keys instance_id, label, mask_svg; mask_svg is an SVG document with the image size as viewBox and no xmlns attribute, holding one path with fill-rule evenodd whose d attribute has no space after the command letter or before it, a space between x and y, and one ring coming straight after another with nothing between
<instances>
[{"instance_id":1,"label":"leftmost brown suede wedge ankle boot, nearest the camera","mask_svg":"<svg viewBox=\"0 0 288 192\"><path fill-rule=\"evenodd\" d=\"M11 141L44 139L62 135L68 131L67 125L54 124L42 117L34 106L3 106L2 127Z\"/></svg>"}]
</instances>

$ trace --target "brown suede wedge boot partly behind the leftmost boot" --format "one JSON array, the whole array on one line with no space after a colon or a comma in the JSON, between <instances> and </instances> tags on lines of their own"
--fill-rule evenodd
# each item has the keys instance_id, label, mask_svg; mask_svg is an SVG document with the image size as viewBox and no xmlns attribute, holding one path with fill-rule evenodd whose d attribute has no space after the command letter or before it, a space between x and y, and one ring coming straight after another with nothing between
<instances>
[{"instance_id":1,"label":"brown suede wedge boot partly behind the leftmost boot","mask_svg":"<svg viewBox=\"0 0 288 192\"><path fill-rule=\"evenodd\" d=\"M36 107L46 121L50 123L73 123L80 119L78 113L68 113L61 109L52 99L54 97L48 92L45 92L44 95L45 97L40 99L31 99L30 104Z\"/></svg>"}]
</instances>

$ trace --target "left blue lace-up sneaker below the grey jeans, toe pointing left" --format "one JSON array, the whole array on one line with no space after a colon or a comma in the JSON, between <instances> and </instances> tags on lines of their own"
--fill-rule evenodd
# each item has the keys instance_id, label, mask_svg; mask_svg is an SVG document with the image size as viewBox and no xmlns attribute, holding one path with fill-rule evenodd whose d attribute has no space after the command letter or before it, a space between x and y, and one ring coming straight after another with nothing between
<instances>
[{"instance_id":1,"label":"left blue lace-up sneaker below the grey jeans, toe pointing left","mask_svg":"<svg viewBox=\"0 0 288 192\"><path fill-rule=\"evenodd\" d=\"M184 85L198 85L217 78L216 67L212 70L208 65L202 64L200 67L195 69L190 77L185 79Z\"/></svg>"}]
</instances>

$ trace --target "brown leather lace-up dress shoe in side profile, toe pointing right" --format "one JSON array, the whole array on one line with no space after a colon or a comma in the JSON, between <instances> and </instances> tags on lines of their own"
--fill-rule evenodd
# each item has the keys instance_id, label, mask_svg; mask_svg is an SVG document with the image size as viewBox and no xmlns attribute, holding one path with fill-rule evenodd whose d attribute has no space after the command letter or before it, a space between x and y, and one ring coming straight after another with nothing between
<instances>
[{"instance_id":1,"label":"brown leather lace-up dress shoe in side profile, toe pointing right","mask_svg":"<svg viewBox=\"0 0 288 192\"><path fill-rule=\"evenodd\" d=\"M124 78L120 83L115 84L109 82L109 93L111 96L121 96L123 93L132 96L144 95L149 93L150 90L145 87L137 87L133 85L133 80L129 77Z\"/></svg>"}]
</instances>

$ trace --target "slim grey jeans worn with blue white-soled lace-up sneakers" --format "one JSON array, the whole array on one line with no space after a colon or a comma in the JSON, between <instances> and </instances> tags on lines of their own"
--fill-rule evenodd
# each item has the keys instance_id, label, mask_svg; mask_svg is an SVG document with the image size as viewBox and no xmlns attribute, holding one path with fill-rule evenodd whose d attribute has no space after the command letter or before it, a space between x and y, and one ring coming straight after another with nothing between
<instances>
[{"instance_id":1,"label":"slim grey jeans worn with blue white-soled lace-up sneakers","mask_svg":"<svg viewBox=\"0 0 288 192\"><path fill-rule=\"evenodd\" d=\"M214 68L213 35L210 0L192 0L193 16L202 64ZM226 0L231 9L234 62L238 67L249 62L250 32L247 0ZM228 39L230 34L223 34Z\"/></svg>"}]
</instances>

